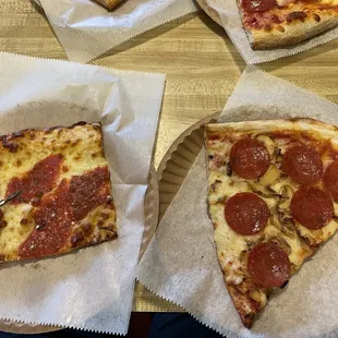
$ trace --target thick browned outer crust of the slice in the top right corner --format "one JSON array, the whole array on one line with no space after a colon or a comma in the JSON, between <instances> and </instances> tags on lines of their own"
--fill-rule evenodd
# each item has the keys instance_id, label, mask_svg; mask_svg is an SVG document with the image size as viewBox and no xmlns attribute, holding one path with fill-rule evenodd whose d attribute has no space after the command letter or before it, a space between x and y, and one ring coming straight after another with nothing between
<instances>
[{"instance_id":1,"label":"thick browned outer crust of the slice in the top right corner","mask_svg":"<svg viewBox=\"0 0 338 338\"><path fill-rule=\"evenodd\" d=\"M321 13L321 21L315 15L307 17L304 22L297 20L291 24L279 25L271 31L252 29L246 31L253 49L270 49L295 45L307 40L338 25L338 14Z\"/></svg>"}]
</instances>

